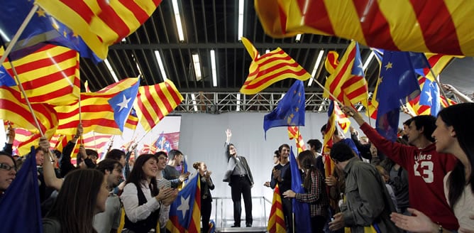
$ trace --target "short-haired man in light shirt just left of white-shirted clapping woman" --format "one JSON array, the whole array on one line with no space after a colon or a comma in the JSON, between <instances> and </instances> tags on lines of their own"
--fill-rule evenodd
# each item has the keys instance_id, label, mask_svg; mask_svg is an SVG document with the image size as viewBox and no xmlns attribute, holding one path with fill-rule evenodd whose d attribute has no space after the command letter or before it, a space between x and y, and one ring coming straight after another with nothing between
<instances>
[{"instance_id":1,"label":"short-haired man in light shirt just left of white-shirted clapping woman","mask_svg":"<svg viewBox=\"0 0 474 233\"><path fill-rule=\"evenodd\" d=\"M121 182L123 167L119 161L106 158L97 164L96 169L105 174L110 193L105 203L105 211L94 215L94 229L98 233L116 232L120 225L121 202L112 190Z\"/></svg>"}]
</instances>

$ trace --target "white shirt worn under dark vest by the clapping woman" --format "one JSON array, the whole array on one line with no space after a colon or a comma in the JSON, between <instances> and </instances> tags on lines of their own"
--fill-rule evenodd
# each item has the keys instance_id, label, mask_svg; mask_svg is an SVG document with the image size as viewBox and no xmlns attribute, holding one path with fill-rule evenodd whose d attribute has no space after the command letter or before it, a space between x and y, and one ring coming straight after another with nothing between
<instances>
[{"instance_id":1,"label":"white shirt worn under dark vest by the clapping woman","mask_svg":"<svg viewBox=\"0 0 474 233\"><path fill-rule=\"evenodd\" d=\"M152 212L160 208L160 203L151 195L151 190L148 188L146 180L142 182L141 191L147 200L143 205L138 205L138 190L133 183L125 185L123 193L120 196L125 214L131 222L145 220Z\"/></svg>"}]
</instances>

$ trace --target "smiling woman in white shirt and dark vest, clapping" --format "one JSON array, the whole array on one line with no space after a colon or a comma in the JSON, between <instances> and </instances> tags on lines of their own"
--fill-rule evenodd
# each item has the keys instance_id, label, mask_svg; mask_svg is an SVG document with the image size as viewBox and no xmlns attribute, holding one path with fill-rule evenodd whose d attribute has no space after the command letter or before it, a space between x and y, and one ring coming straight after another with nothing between
<instances>
[{"instance_id":1,"label":"smiling woman in white shirt and dark vest, clapping","mask_svg":"<svg viewBox=\"0 0 474 233\"><path fill-rule=\"evenodd\" d=\"M122 232L145 233L155 229L162 202L166 205L174 200L176 192L172 188L158 190L157 164L158 159L152 154L143 154L136 159L120 197L125 209Z\"/></svg>"}]
</instances>

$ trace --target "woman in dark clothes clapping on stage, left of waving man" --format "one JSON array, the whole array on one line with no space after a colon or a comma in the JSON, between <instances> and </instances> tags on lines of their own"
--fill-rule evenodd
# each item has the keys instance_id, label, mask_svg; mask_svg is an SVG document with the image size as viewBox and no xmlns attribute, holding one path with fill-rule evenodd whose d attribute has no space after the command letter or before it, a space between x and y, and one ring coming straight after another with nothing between
<instances>
[{"instance_id":1,"label":"woman in dark clothes clapping on stage, left of waving man","mask_svg":"<svg viewBox=\"0 0 474 233\"><path fill-rule=\"evenodd\" d=\"M192 167L199 173L201 182L201 217L202 217L202 232L209 232L209 219L211 218L212 210L212 196L211 190L214 190L214 183L211 179L211 171L207 170L206 163L196 162Z\"/></svg>"}]
</instances>

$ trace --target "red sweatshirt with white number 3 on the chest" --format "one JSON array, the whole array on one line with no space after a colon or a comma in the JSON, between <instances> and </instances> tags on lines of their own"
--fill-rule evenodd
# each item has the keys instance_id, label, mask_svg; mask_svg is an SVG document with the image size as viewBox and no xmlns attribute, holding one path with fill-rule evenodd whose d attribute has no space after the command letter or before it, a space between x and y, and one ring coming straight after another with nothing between
<instances>
[{"instance_id":1,"label":"red sweatshirt with white number 3 on the chest","mask_svg":"<svg viewBox=\"0 0 474 233\"><path fill-rule=\"evenodd\" d=\"M380 136L364 123L360 126L365 136L388 158L408 171L409 205L446 229L457 230L458 220L444 196L443 178L453 170L457 159L448 153L436 152L431 143L425 148L393 143Z\"/></svg>"}]
</instances>

